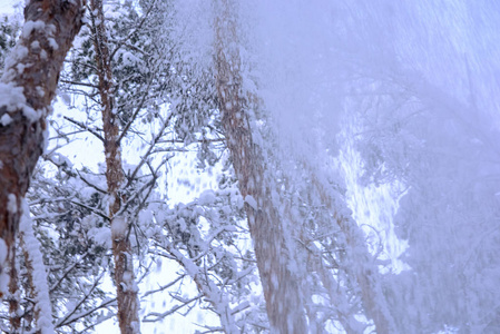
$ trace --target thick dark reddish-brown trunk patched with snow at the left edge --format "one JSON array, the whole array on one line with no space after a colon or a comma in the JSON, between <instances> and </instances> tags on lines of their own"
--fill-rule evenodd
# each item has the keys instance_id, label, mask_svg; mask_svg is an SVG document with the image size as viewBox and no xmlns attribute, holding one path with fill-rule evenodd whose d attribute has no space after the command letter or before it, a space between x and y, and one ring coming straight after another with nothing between
<instances>
[{"instance_id":1,"label":"thick dark reddish-brown trunk patched with snow at the left edge","mask_svg":"<svg viewBox=\"0 0 500 334\"><path fill-rule=\"evenodd\" d=\"M3 90L21 87L26 98L17 105L0 101L0 119L10 119L0 122L0 238L8 258L13 255L21 199L43 150L46 117L59 71L81 27L82 4L82 0L31 0L24 9L23 33L6 61L2 84L10 86L3 85ZM1 274L6 262L0 262Z\"/></svg>"}]
</instances>

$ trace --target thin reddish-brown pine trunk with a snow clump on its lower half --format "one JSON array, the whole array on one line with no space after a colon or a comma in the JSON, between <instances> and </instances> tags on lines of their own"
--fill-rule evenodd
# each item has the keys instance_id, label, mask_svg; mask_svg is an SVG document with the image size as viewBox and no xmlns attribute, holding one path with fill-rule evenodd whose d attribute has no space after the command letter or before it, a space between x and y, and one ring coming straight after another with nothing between
<instances>
[{"instance_id":1,"label":"thin reddish-brown pine trunk with a snow clump on its lower half","mask_svg":"<svg viewBox=\"0 0 500 334\"><path fill-rule=\"evenodd\" d=\"M114 112L115 96L111 59L101 0L91 0L94 47L99 77L102 128L105 134L106 180L109 196L112 255L115 259L115 284L117 287L118 323L122 334L139 333L139 301L134 277L133 252L128 238L129 222L121 213L121 187L125 175L121 168L118 119Z\"/></svg>"}]
</instances>

